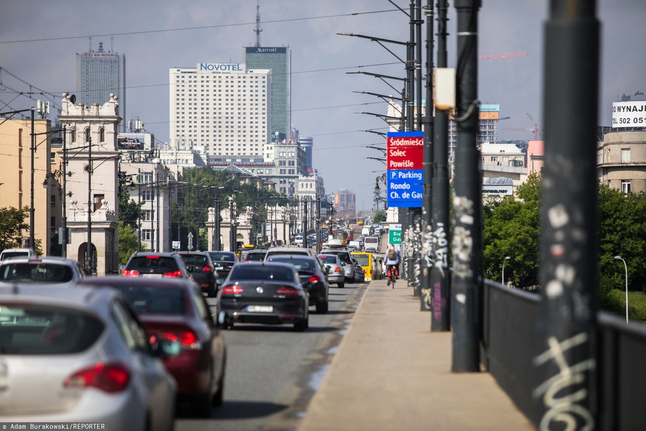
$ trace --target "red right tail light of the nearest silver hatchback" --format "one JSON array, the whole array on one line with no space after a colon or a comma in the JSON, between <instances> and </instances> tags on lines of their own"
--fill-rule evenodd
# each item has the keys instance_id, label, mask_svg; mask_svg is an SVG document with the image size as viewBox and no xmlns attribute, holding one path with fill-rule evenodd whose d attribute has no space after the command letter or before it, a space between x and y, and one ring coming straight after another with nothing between
<instances>
[{"instance_id":1,"label":"red right tail light of the nearest silver hatchback","mask_svg":"<svg viewBox=\"0 0 646 431\"><path fill-rule=\"evenodd\" d=\"M98 388L105 392L121 392L130 382L130 370L123 364L97 363L80 370L65 379L64 388L85 389Z\"/></svg>"}]
</instances>

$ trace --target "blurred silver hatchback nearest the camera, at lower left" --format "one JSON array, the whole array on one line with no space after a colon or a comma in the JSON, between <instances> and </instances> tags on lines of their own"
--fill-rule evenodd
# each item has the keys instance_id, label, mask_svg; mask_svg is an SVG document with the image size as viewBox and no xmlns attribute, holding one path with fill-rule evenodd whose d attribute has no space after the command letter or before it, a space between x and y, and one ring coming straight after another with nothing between
<instances>
[{"instance_id":1,"label":"blurred silver hatchback nearest the camera, at lower left","mask_svg":"<svg viewBox=\"0 0 646 431\"><path fill-rule=\"evenodd\" d=\"M120 293L0 287L0 422L172 430L176 383Z\"/></svg>"}]
</instances>

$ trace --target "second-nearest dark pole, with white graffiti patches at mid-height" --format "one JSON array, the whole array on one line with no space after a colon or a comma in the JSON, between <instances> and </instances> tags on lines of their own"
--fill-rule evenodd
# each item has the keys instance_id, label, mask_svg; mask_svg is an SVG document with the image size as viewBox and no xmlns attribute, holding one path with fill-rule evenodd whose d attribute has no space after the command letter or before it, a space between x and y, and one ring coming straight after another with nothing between
<instances>
[{"instance_id":1,"label":"second-nearest dark pole, with white graffiti patches at mid-height","mask_svg":"<svg viewBox=\"0 0 646 431\"><path fill-rule=\"evenodd\" d=\"M477 14L479 0L455 0L457 9L457 150L452 271L453 372L477 372L481 317L478 257L481 185L478 174Z\"/></svg>"}]
</instances>

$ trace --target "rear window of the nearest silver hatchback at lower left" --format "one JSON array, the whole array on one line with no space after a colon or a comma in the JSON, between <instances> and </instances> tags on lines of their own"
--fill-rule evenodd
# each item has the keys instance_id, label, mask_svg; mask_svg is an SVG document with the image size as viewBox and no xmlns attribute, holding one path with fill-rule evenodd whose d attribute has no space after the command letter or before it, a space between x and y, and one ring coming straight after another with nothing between
<instances>
[{"instance_id":1,"label":"rear window of the nearest silver hatchback at lower left","mask_svg":"<svg viewBox=\"0 0 646 431\"><path fill-rule=\"evenodd\" d=\"M67 355L87 350L103 323L56 306L0 304L0 355Z\"/></svg>"}]
</instances>

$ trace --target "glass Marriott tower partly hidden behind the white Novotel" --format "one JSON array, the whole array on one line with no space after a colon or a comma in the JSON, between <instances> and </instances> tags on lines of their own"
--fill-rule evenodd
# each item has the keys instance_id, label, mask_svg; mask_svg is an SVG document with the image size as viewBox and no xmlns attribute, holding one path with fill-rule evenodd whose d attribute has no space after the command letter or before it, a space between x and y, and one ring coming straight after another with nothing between
<instances>
[{"instance_id":1,"label":"glass Marriott tower partly hidden behind the white Novotel","mask_svg":"<svg viewBox=\"0 0 646 431\"><path fill-rule=\"evenodd\" d=\"M271 69L272 140L289 139L291 132L291 48L246 47L247 68Z\"/></svg>"}]
</instances>

